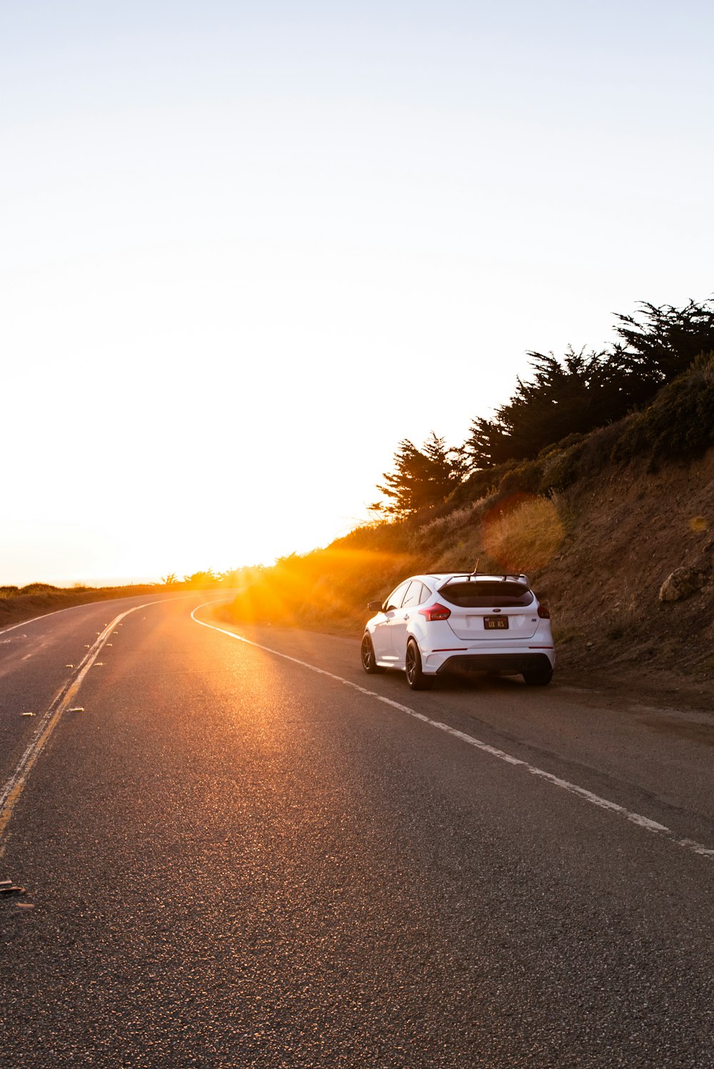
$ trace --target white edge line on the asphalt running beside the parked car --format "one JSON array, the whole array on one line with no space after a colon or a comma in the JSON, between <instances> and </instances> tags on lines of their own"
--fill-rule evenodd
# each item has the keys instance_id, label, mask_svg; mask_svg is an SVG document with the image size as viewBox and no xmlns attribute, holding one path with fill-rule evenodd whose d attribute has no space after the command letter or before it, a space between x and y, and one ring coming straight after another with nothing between
<instances>
[{"instance_id":1,"label":"white edge line on the asphalt running beside the parked car","mask_svg":"<svg viewBox=\"0 0 714 1069\"><path fill-rule=\"evenodd\" d=\"M646 832L652 832L654 835L661 835L676 846L681 847L683 850L689 850L695 854L699 854L701 857L714 857L714 850L710 850L702 846L701 842L695 842L694 839L678 839L677 835L670 827L665 824L657 823L656 820L650 820L649 817L642 817L639 812L633 812L631 809L626 809L624 806L618 805L617 802L610 802L608 799L603 799L599 794L593 794L592 791L586 790L585 787L578 787L577 784L571 784L568 779L561 779L559 776L554 776L550 772L545 772L544 769L539 769L534 764L529 764L528 761L523 761L519 757L513 757L511 754L507 754L502 749L498 749L496 746L490 746L485 742L481 742L475 735L466 734L465 731L459 731L456 728L450 727L448 724L443 724L440 721L433 721L431 717L425 716L423 713L418 713L415 709L410 709L408 706L403 706L399 701L392 701L391 698L385 698L384 695L377 694L376 691L369 691L364 686L360 686L359 683L353 683L352 680L344 679L342 676L336 676L335 672L326 671L324 668L317 668L316 665L311 665L307 661L299 661L297 657L291 657L288 653L281 653L279 650L273 650L268 646L261 646L260 642L253 642L249 638L244 638L243 635L237 635L234 631L227 631L224 628L218 628L216 624L206 623L204 620L199 620L196 614L200 608L205 605L209 605L211 602L204 602L203 605L197 605L191 613L191 620L195 623L200 623L202 628L211 628L212 631L219 631L221 635L228 635L229 638L235 638L239 642L245 642L247 646L254 646L259 650L263 650L265 653L273 653L277 657L282 657L284 661L292 661L293 664L300 665L302 668L309 668L310 671L316 672L319 676L327 676L328 679L333 679L338 683L342 683L344 686L352 687L353 691L359 691L360 694L366 694L370 698L376 698L377 701L382 701L385 706L391 706L392 709L398 709L402 713L406 713L407 716L413 716L417 721L421 721L422 724L428 724L429 727L436 728L437 731L445 731L447 734L453 735L455 739L461 739L462 742L468 743L469 746L474 746L476 749L482 750L484 754L491 755L491 757L497 758L499 761L505 761L507 764L517 765L524 769L531 776L538 776L541 779L545 779L546 783L552 784L554 787L558 787L560 790L568 791L570 794L575 794L577 797L589 802L590 805L597 806L600 809L606 809L609 812L615 812L620 817L624 817L632 824L636 824L638 827L643 828Z\"/></svg>"}]
</instances>

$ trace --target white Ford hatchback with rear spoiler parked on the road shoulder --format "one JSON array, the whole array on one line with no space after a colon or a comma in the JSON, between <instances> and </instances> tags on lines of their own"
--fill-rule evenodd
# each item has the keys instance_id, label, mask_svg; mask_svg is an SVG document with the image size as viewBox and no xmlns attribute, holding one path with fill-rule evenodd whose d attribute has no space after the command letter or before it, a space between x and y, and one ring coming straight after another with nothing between
<instances>
[{"instance_id":1,"label":"white Ford hatchback with rear spoiler parked on the road shoulder","mask_svg":"<svg viewBox=\"0 0 714 1069\"><path fill-rule=\"evenodd\" d=\"M413 691L453 670L522 675L545 686L556 663L550 614L525 575L413 575L367 606L362 668L400 668Z\"/></svg>"}]
</instances>

